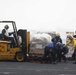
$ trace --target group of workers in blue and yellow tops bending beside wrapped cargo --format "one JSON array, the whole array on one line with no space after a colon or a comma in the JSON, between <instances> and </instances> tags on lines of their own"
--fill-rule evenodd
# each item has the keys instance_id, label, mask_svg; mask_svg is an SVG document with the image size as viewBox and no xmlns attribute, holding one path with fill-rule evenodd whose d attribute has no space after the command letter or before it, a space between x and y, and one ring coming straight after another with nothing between
<instances>
[{"instance_id":1,"label":"group of workers in blue and yellow tops bending beside wrapped cargo","mask_svg":"<svg viewBox=\"0 0 76 75\"><path fill-rule=\"evenodd\" d=\"M66 54L69 51L68 45L73 44L72 49L74 50L74 57L76 57L76 35L71 36L68 35L67 38L69 41L66 44L62 43L62 39L59 34L56 34L54 38L52 38L52 42L48 43L44 48L44 55L41 60L41 63L50 61L53 64L56 64L58 62L61 62L62 60L64 62L67 61ZM47 60L48 59L48 60ZM76 59L74 64L76 64Z\"/></svg>"}]
</instances>

